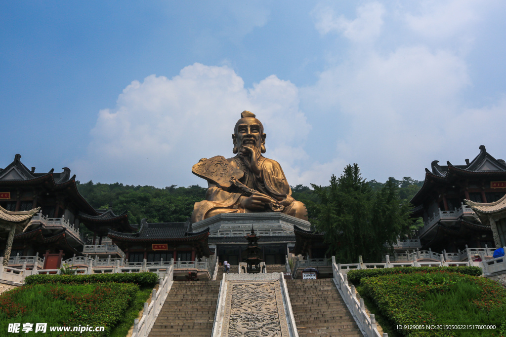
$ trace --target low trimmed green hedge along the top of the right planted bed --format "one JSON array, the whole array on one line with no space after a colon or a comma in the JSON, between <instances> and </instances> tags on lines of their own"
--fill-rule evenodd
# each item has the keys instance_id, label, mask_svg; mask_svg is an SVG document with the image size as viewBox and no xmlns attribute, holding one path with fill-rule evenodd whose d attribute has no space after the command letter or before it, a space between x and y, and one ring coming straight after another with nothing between
<instances>
[{"instance_id":1,"label":"low trimmed green hedge along the top of the right planted bed","mask_svg":"<svg viewBox=\"0 0 506 337\"><path fill-rule=\"evenodd\" d=\"M376 269L353 269L348 271L348 281L357 285L365 277L377 277L390 274L412 274L415 272L447 271L471 276L480 276L483 271L480 267L397 267Z\"/></svg>"}]
</instances>

